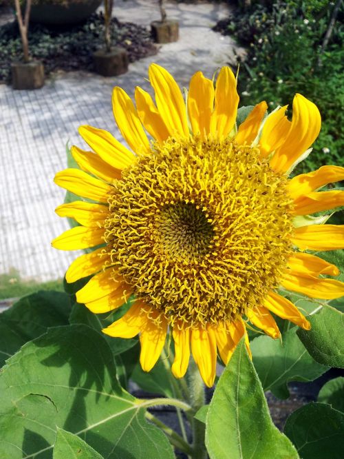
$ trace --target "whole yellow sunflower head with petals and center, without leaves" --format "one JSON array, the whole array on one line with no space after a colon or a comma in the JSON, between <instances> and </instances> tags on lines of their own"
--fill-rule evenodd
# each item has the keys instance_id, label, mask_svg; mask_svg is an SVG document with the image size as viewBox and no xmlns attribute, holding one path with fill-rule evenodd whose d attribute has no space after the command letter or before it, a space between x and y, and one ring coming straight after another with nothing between
<instances>
[{"instance_id":1,"label":"whole yellow sunflower head with petals and center, without leaves","mask_svg":"<svg viewBox=\"0 0 344 459\"><path fill-rule=\"evenodd\" d=\"M56 209L80 226L52 245L100 245L76 258L66 280L94 274L76 294L94 313L129 303L103 332L140 334L144 371L157 362L169 330L174 376L184 376L192 352L211 387L217 352L227 364L243 336L249 349L248 322L272 338L280 332L271 313L310 329L277 289L325 299L344 293L343 283L328 278L337 267L305 252L344 247L343 226L309 215L344 205L344 192L316 191L344 179L344 168L328 165L288 179L321 127L316 105L301 94L291 121L287 105L267 115L261 102L237 127L230 68L219 71L216 84L195 73L186 102L159 65L150 66L149 81L155 101L136 88L136 105L114 88L114 117L130 150L105 130L80 127L92 151L72 147L80 169L55 177L86 198Z\"/></svg>"}]
</instances>

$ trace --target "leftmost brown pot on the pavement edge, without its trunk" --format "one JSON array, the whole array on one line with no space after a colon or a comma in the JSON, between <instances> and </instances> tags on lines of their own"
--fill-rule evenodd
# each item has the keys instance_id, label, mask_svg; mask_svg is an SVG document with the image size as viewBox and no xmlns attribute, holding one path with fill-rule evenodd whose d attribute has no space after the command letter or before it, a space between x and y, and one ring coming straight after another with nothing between
<instances>
[{"instance_id":1,"label":"leftmost brown pot on the pavement edge, without its trunk","mask_svg":"<svg viewBox=\"0 0 344 459\"><path fill-rule=\"evenodd\" d=\"M32 90L44 85L44 67L41 61L12 62L12 86L17 90Z\"/></svg>"}]
</instances>

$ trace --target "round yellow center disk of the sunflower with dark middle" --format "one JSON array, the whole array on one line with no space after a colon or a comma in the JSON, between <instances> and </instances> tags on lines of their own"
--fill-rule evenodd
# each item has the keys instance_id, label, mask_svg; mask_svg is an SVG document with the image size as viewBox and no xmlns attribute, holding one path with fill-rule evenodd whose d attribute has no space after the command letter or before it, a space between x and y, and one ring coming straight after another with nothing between
<instances>
[{"instance_id":1,"label":"round yellow center disk of the sunflower with dark middle","mask_svg":"<svg viewBox=\"0 0 344 459\"><path fill-rule=\"evenodd\" d=\"M169 139L122 172L105 241L133 293L171 325L261 305L291 252L286 179L234 141Z\"/></svg>"}]
</instances>

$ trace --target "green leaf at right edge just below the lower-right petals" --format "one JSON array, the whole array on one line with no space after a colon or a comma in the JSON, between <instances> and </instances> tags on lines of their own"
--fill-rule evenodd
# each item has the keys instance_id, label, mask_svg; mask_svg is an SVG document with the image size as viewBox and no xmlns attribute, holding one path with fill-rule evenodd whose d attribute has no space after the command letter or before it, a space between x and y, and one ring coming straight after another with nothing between
<instances>
[{"instance_id":1,"label":"green leaf at right edge just below the lower-right petals","mask_svg":"<svg viewBox=\"0 0 344 459\"><path fill-rule=\"evenodd\" d=\"M308 319L312 328L297 335L310 355L323 365L344 368L343 312L325 306Z\"/></svg>"}]
</instances>

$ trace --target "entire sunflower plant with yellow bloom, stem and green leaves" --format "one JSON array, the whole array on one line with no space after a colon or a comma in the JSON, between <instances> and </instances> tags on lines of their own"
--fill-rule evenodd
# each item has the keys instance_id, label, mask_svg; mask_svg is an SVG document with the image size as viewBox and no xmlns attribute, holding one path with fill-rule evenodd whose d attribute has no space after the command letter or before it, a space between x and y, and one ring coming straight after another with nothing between
<instances>
[{"instance_id":1,"label":"entire sunflower plant with yellow bloom, stem and green leaves","mask_svg":"<svg viewBox=\"0 0 344 459\"><path fill-rule=\"evenodd\" d=\"M344 367L344 227L313 218L343 205L321 187L344 167L290 176L318 108L297 94L291 121L265 101L237 110L228 67L197 72L187 99L160 65L149 81L155 101L136 88L136 105L114 88L128 147L84 125L92 151L72 146L55 176L74 224L52 245L85 254L64 293L0 315L0 457L341 458L344 378L283 432L264 396Z\"/></svg>"}]
</instances>

